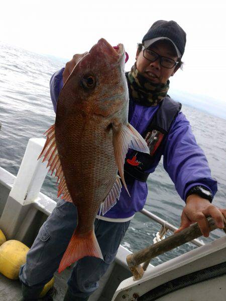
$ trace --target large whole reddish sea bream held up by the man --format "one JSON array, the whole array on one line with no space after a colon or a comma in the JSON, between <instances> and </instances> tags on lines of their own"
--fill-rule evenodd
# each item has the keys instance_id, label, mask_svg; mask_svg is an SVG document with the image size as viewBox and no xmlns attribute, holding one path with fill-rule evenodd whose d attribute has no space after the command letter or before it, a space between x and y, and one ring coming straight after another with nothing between
<instances>
[{"instance_id":1,"label":"large whole reddish sea bream held up by the man","mask_svg":"<svg viewBox=\"0 0 226 301\"><path fill-rule=\"evenodd\" d=\"M149 154L145 140L128 123L125 50L100 39L77 63L57 102L56 120L40 154L57 177L58 196L77 207L77 227L59 272L84 256L102 258L94 234L98 210L119 200L128 148ZM118 171L120 177L118 176ZM59 242L60 243L60 242Z\"/></svg>"}]
</instances>

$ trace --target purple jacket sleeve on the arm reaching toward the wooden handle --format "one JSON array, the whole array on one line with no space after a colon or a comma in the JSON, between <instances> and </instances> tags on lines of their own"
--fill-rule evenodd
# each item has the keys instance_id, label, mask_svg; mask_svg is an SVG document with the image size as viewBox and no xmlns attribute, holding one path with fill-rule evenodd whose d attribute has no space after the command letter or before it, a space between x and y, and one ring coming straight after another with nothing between
<instances>
[{"instance_id":1,"label":"purple jacket sleeve on the arm reaching toward the wooden handle","mask_svg":"<svg viewBox=\"0 0 226 301\"><path fill-rule=\"evenodd\" d=\"M182 112L167 135L163 156L164 169L184 201L188 191L196 185L209 189L215 195L217 183L211 177L203 150L197 145L190 123Z\"/></svg>"}]
</instances>

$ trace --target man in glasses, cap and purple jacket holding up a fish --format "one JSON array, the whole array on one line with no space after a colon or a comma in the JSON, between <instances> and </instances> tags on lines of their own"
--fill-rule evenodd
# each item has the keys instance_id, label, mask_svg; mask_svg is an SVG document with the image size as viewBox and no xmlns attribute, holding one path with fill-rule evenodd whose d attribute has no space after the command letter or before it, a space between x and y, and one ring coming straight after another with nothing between
<instances>
[{"instance_id":1,"label":"man in glasses, cap and purple jacket holding up a fish","mask_svg":"<svg viewBox=\"0 0 226 301\"><path fill-rule=\"evenodd\" d=\"M98 287L97 281L114 260L130 220L145 204L147 176L154 172L162 155L165 170L186 202L178 231L197 222L207 237L209 229L206 217L209 215L219 228L223 228L226 210L211 205L217 187L211 178L206 158L196 144L189 122L180 112L180 104L167 95L169 78L181 65L185 43L186 34L176 22L157 21L144 36L142 44L139 44L136 63L126 74L130 91L129 122L141 134L145 133L151 155L144 157L128 152L125 176L131 197L123 188L119 202L99 220L95 220L95 233L104 260L84 257L75 263L65 301L87 300ZM63 83L85 54L74 55L65 69L52 76L50 90L55 111ZM153 120L156 127L153 127ZM152 128L147 132L150 122ZM159 130L165 124L168 127ZM20 271L24 300L37 299L45 283L52 278L76 227L76 218L76 207L60 200L41 227L27 255L27 263Z\"/></svg>"}]
</instances>

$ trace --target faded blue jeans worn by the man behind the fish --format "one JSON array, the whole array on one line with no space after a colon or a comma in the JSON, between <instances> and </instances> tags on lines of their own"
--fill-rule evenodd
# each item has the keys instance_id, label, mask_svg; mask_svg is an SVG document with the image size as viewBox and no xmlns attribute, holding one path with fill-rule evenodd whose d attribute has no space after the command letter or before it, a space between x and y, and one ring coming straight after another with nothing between
<instances>
[{"instance_id":1,"label":"faded blue jeans worn by the man behind the fish","mask_svg":"<svg viewBox=\"0 0 226 301\"><path fill-rule=\"evenodd\" d=\"M98 280L114 261L119 245L130 221L123 223L95 219L95 235L103 259L83 257L72 270L68 286L78 297L88 297L98 288ZM69 202L58 201L56 208L40 228L27 254L26 264L21 266L20 280L29 288L45 285L58 269L77 225L77 209Z\"/></svg>"}]
</instances>

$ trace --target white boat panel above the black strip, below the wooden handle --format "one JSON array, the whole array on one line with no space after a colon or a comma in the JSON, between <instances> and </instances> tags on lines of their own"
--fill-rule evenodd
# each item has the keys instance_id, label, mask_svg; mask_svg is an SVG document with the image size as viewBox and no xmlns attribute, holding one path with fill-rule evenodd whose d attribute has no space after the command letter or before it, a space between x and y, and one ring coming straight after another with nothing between
<instances>
[{"instance_id":1,"label":"white boat panel above the black strip, below the wooden handle","mask_svg":"<svg viewBox=\"0 0 226 301\"><path fill-rule=\"evenodd\" d=\"M134 281L133 277L124 280L117 288L112 301L134 300L135 292L143 295L172 279L224 261L226 261L226 236L147 270L140 280Z\"/></svg>"}]
</instances>

